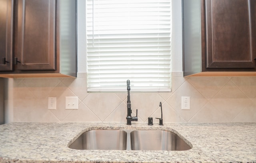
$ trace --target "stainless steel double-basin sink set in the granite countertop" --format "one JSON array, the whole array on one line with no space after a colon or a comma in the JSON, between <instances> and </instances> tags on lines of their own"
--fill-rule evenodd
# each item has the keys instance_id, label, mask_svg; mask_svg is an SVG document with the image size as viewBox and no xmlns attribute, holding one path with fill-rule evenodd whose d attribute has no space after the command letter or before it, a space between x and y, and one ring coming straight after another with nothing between
<instances>
[{"instance_id":1,"label":"stainless steel double-basin sink set in the granite countertop","mask_svg":"<svg viewBox=\"0 0 256 163\"><path fill-rule=\"evenodd\" d=\"M191 149L192 145L166 130L95 129L82 133L68 147L80 150L184 151Z\"/></svg>"}]
</instances>

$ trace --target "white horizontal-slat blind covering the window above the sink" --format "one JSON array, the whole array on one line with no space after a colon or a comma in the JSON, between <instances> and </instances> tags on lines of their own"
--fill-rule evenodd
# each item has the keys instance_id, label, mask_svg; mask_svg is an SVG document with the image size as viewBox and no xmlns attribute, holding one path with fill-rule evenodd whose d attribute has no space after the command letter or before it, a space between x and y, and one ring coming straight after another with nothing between
<instances>
[{"instance_id":1,"label":"white horizontal-slat blind covering the window above the sink","mask_svg":"<svg viewBox=\"0 0 256 163\"><path fill-rule=\"evenodd\" d=\"M86 0L88 91L170 91L171 0Z\"/></svg>"}]
</instances>

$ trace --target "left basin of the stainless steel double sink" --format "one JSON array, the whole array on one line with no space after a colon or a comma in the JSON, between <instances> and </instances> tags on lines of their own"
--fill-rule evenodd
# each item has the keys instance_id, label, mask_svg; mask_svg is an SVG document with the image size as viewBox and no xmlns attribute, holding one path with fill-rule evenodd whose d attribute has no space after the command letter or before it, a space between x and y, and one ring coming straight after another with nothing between
<instances>
[{"instance_id":1,"label":"left basin of the stainless steel double sink","mask_svg":"<svg viewBox=\"0 0 256 163\"><path fill-rule=\"evenodd\" d=\"M126 150L124 130L90 130L82 133L70 146L72 149Z\"/></svg>"}]
</instances>

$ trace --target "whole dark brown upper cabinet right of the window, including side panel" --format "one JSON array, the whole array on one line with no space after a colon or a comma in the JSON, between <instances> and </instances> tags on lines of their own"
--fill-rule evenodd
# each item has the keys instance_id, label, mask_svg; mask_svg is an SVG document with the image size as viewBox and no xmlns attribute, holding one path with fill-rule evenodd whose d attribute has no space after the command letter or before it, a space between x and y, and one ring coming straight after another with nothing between
<instances>
[{"instance_id":1,"label":"whole dark brown upper cabinet right of the window, including side panel","mask_svg":"<svg viewBox=\"0 0 256 163\"><path fill-rule=\"evenodd\" d=\"M183 0L184 76L256 76L255 8L255 0Z\"/></svg>"}]
</instances>

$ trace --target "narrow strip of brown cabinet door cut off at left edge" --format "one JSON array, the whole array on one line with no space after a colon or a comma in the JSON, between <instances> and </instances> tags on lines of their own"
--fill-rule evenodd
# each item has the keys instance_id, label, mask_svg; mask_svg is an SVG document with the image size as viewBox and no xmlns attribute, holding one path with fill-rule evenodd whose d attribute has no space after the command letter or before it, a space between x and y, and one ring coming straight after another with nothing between
<instances>
[{"instance_id":1,"label":"narrow strip of brown cabinet door cut off at left edge","mask_svg":"<svg viewBox=\"0 0 256 163\"><path fill-rule=\"evenodd\" d=\"M0 0L0 71L13 70L13 0Z\"/></svg>"}]
</instances>

